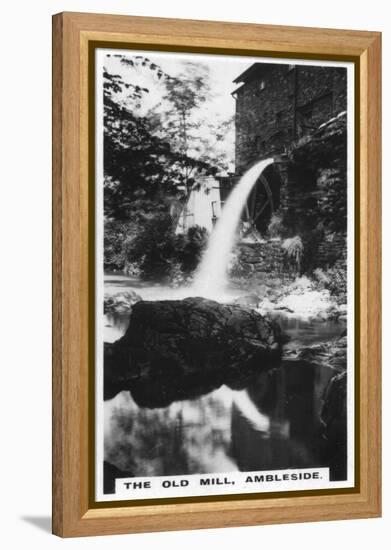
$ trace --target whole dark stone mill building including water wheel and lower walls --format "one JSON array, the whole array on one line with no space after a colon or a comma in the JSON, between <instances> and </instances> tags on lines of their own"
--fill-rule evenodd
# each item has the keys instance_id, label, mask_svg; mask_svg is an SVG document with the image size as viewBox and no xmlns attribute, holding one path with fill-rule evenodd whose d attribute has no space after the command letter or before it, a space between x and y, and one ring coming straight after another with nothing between
<instances>
[{"instance_id":1,"label":"whole dark stone mill building including water wheel and lower walls","mask_svg":"<svg viewBox=\"0 0 391 550\"><path fill-rule=\"evenodd\" d=\"M254 63L234 83L235 175L225 185L258 160L275 159L243 213L244 233L263 244L243 245L243 259L252 269L278 270L278 241L298 236L302 271L345 262L346 68Z\"/></svg>"}]
</instances>

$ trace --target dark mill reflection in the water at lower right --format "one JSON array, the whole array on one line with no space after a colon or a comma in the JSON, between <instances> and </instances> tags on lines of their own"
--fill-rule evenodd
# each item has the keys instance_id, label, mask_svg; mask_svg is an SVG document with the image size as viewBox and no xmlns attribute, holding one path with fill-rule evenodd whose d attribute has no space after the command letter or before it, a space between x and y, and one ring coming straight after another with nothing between
<instances>
[{"instance_id":1,"label":"dark mill reflection in the water at lower right","mask_svg":"<svg viewBox=\"0 0 391 550\"><path fill-rule=\"evenodd\" d=\"M232 454L240 470L327 466L320 413L332 369L285 361L261 374L247 391L269 427L257 426L234 402ZM331 472L333 477L333 472Z\"/></svg>"}]
</instances>

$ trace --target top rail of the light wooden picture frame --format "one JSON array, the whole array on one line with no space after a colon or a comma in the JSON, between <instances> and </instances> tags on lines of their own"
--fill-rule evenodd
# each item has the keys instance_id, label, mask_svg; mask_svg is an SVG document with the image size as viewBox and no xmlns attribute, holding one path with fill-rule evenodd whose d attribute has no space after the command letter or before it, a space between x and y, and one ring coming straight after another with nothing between
<instances>
[{"instance_id":1,"label":"top rail of the light wooden picture frame","mask_svg":"<svg viewBox=\"0 0 391 550\"><path fill-rule=\"evenodd\" d=\"M183 19L64 13L83 32L104 40L330 55L361 55L378 33Z\"/></svg>"}]
</instances>

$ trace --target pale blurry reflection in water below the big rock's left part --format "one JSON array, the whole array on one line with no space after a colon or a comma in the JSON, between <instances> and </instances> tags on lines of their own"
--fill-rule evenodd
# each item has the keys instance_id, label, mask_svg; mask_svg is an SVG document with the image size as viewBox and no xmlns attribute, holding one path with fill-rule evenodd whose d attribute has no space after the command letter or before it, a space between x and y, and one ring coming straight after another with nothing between
<instances>
[{"instance_id":1,"label":"pale blurry reflection in water below the big rock's left part","mask_svg":"<svg viewBox=\"0 0 391 550\"><path fill-rule=\"evenodd\" d=\"M139 408L121 392L105 407L105 459L121 470L134 476L237 470L227 388L162 409Z\"/></svg>"}]
</instances>

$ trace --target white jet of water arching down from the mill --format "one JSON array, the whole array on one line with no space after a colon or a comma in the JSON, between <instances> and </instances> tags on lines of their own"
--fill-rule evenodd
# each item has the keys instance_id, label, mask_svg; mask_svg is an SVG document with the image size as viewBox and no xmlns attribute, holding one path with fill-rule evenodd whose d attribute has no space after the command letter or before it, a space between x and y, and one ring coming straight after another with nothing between
<instances>
[{"instance_id":1,"label":"white jet of water arching down from the mill","mask_svg":"<svg viewBox=\"0 0 391 550\"><path fill-rule=\"evenodd\" d=\"M196 273L194 294L216 298L224 292L230 254L244 205L258 177L272 162L272 158L257 162L241 177L230 194Z\"/></svg>"}]
</instances>

